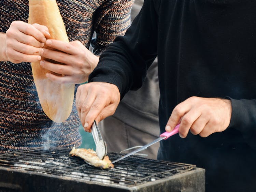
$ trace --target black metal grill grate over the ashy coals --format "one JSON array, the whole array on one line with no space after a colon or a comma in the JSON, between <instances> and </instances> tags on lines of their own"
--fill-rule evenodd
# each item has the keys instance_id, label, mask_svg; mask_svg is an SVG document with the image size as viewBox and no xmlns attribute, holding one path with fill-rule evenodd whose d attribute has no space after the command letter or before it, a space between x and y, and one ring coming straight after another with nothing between
<instances>
[{"instance_id":1,"label":"black metal grill grate over the ashy coals","mask_svg":"<svg viewBox=\"0 0 256 192\"><path fill-rule=\"evenodd\" d=\"M34 148L0 155L0 168L18 169L27 172L69 177L118 186L136 186L169 176L181 174L195 165L149 160L130 156L114 164L114 168L101 169L88 165L81 158L69 157L69 149ZM108 153L110 160L122 156Z\"/></svg>"}]
</instances>

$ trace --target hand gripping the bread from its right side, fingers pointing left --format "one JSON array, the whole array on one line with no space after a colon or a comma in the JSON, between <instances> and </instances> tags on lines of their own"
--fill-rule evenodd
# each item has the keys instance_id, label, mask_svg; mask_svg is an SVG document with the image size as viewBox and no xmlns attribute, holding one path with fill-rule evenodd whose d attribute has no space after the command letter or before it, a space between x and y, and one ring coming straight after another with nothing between
<instances>
[{"instance_id":1,"label":"hand gripping the bread from its right side, fingers pointing left","mask_svg":"<svg viewBox=\"0 0 256 192\"><path fill-rule=\"evenodd\" d=\"M91 53L80 41L67 43L51 39L45 44L54 50L44 48L41 56L65 64L53 63L51 60L40 62L44 69L51 71L46 73L46 76L55 83L84 83L98 64L99 57Z\"/></svg>"}]
</instances>

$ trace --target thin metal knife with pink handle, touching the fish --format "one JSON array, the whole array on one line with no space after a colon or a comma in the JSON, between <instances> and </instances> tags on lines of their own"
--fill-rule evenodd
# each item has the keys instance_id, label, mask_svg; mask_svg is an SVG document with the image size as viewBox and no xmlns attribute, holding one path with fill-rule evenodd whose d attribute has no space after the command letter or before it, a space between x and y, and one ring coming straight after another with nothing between
<instances>
[{"instance_id":1,"label":"thin metal knife with pink handle, touching the fish","mask_svg":"<svg viewBox=\"0 0 256 192\"><path fill-rule=\"evenodd\" d=\"M129 157L129 156L133 155L134 153L137 153L137 152L139 152L139 151L142 151L142 150L148 148L149 146L151 146L151 145L153 145L153 144L155 144L155 143L157 143L157 142L159 142L159 141L161 141L161 140L168 139L170 136L175 135L176 133L179 133L179 128L180 128L180 124L176 125L176 127L175 127L171 132L164 132L164 133L162 133L162 134L160 135L160 137L158 137L157 139L155 139L153 142L151 142L151 143L149 143L149 144L147 144L147 145L144 145L144 146L140 147L139 149L136 149L136 150L134 150L134 151L132 151L132 152L126 154L125 156L120 157L119 159L117 159L117 160L115 160L115 161L112 161L112 163L116 163L117 161L120 161L120 160L122 160L122 159L124 159L124 158L126 158L126 157Z\"/></svg>"}]
</instances>

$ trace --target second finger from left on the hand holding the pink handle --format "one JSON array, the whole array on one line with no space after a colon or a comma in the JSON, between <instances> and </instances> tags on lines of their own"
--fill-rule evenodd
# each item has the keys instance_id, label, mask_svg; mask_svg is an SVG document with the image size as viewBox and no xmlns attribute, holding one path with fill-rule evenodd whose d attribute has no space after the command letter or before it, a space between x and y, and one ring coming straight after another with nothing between
<instances>
[{"instance_id":1,"label":"second finger from left on the hand holding the pink handle","mask_svg":"<svg viewBox=\"0 0 256 192\"><path fill-rule=\"evenodd\" d=\"M185 138L193 125L193 123L201 116L200 110L189 110L181 119L179 134Z\"/></svg>"}]
</instances>

